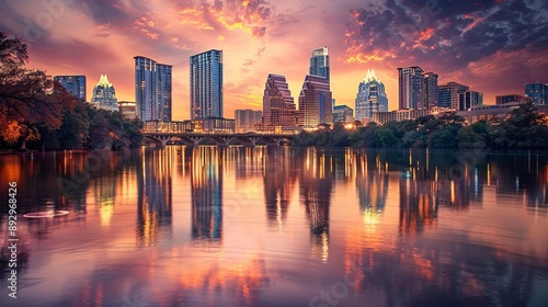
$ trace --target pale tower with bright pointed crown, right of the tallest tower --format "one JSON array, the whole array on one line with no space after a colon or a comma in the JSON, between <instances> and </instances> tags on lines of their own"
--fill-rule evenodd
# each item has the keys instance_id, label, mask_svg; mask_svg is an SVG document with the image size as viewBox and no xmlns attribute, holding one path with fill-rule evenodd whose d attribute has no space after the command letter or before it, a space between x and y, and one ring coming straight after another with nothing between
<instances>
[{"instance_id":1,"label":"pale tower with bright pointed crown, right of the tallest tower","mask_svg":"<svg viewBox=\"0 0 548 307\"><path fill-rule=\"evenodd\" d=\"M385 92L385 84L375 75L375 69L367 70L367 76L357 87L355 110L357 121L369 121L374 112L388 111L388 98Z\"/></svg>"}]
</instances>

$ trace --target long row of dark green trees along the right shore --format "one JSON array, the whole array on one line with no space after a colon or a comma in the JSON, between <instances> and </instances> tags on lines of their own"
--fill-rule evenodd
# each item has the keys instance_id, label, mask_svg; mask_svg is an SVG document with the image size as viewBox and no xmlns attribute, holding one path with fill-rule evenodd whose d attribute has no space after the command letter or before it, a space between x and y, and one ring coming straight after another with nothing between
<instances>
[{"instance_id":1,"label":"long row of dark green trees along the right shore","mask_svg":"<svg viewBox=\"0 0 548 307\"><path fill-rule=\"evenodd\" d=\"M381 126L369 123L351 130L336 123L333 129L301 132L292 144L377 148L548 148L548 117L528 103L513 110L505 120L471 125L466 125L465 118L456 113L389 122Z\"/></svg>"}]
</instances>

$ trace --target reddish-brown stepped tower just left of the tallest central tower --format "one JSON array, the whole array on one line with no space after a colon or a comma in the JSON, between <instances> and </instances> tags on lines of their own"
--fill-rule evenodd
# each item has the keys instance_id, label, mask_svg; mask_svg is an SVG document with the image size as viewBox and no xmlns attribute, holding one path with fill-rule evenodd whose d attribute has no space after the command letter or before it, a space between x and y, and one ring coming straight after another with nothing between
<instances>
[{"instance_id":1,"label":"reddish-brown stepped tower just left of the tallest central tower","mask_svg":"<svg viewBox=\"0 0 548 307\"><path fill-rule=\"evenodd\" d=\"M263 124L270 127L295 127L295 101L284 76L270 73L264 84Z\"/></svg>"}]
</instances>

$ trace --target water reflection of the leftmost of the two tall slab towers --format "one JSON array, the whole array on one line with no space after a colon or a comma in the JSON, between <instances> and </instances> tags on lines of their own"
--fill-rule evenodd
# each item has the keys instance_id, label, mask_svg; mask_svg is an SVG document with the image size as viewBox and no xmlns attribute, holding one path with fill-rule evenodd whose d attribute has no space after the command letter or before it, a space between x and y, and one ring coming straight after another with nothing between
<instances>
[{"instance_id":1,"label":"water reflection of the leftmost of the two tall slab towers","mask_svg":"<svg viewBox=\"0 0 548 307\"><path fill-rule=\"evenodd\" d=\"M162 226L171 226L172 161L174 148L144 149L138 179L137 245L152 246Z\"/></svg>"}]
</instances>

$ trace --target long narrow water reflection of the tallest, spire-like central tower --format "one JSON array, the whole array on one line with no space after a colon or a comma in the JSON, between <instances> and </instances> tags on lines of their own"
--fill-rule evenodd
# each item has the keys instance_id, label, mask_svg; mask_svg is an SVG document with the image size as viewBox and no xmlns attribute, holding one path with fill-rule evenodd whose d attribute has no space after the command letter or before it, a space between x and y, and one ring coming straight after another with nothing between
<instances>
[{"instance_id":1,"label":"long narrow water reflection of the tallest, spire-like central tower","mask_svg":"<svg viewBox=\"0 0 548 307\"><path fill-rule=\"evenodd\" d=\"M332 159L309 149L302 157L300 196L310 221L311 257L322 262L329 258L329 205L333 185Z\"/></svg>"}]
</instances>

